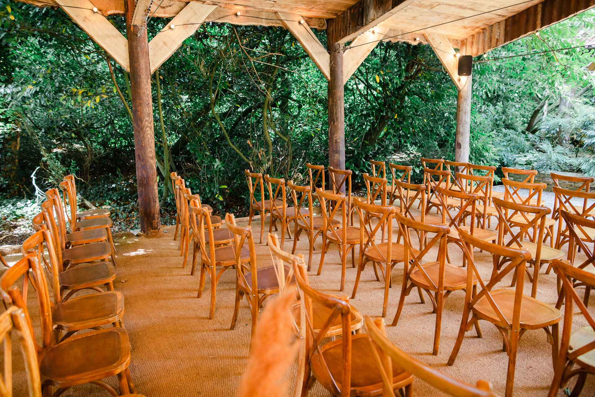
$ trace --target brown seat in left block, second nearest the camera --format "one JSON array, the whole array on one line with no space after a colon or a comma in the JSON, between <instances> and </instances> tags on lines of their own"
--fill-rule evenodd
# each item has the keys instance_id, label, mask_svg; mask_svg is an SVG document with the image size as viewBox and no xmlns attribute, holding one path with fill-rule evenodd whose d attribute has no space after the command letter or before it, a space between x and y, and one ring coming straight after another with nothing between
<instances>
[{"instance_id":1,"label":"brown seat in left block, second nearest the camera","mask_svg":"<svg viewBox=\"0 0 595 397\"><path fill-rule=\"evenodd\" d=\"M124 314L120 291L90 293L52 308L52 321L58 329L71 331L114 323Z\"/></svg>"}]
</instances>

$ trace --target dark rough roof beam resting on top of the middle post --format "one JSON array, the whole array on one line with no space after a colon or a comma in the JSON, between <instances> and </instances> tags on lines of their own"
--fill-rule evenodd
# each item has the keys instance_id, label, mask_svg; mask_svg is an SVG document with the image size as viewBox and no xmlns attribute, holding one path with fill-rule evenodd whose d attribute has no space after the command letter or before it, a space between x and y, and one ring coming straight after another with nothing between
<instances>
[{"instance_id":1,"label":"dark rough roof beam resting on top of the middle post","mask_svg":"<svg viewBox=\"0 0 595 397\"><path fill-rule=\"evenodd\" d=\"M359 0L328 24L331 42L344 44L392 17L416 0Z\"/></svg>"}]
</instances>

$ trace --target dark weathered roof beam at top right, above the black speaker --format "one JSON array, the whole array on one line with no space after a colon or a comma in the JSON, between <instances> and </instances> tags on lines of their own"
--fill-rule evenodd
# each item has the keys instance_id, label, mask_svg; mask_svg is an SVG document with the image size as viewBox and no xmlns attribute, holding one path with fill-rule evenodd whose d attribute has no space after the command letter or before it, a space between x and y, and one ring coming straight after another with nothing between
<instances>
[{"instance_id":1,"label":"dark weathered roof beam at top right, above the black speaker","mask_svg":"<svg viewBox=\"0 0 595 397\"><path fill-rule=\"evenodd\" d=\"M595 0L544 0L467 37L466 54L476 57L593 7Z\"/></svg>"}]
</instances>

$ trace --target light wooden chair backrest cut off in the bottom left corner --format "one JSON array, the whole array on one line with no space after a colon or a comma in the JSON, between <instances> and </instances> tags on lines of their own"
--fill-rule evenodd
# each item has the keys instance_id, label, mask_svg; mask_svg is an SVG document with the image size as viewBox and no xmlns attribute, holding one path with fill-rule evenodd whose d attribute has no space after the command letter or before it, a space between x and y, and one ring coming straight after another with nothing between
<instances>
[{"instance_id":1,"label":"light wooden chair backrest cut off in the bottom left corner","mask_svg":"<svg viewBox=\"0 0 595 397\"><path fill-rule=\"evenodd\" d=\"M25 372L27 374L27 389L29 397L41 397L41 382L37 352L33 342L33 330L29 328L23 309L11 306L0 314L0 341L4 342L4 379L0 378L0 395L12 397L12 340L11 331L15 332L18 344L21 346Z\"/></svg>"}]
</instances>

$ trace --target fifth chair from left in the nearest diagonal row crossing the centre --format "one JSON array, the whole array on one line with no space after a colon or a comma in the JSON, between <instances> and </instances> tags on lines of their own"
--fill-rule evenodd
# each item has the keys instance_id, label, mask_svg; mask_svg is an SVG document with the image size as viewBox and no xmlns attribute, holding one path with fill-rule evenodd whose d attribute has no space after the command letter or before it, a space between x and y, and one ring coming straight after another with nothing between
<instances>
[{"instance_id":1,"label":"fifth chair from left in the nearest diagonal row crossing the centre","mask_svg":"<svg viewBox=\"0 0 595 397\"><path fill-rule=\"evenodd\" d=\"M387 306L389 303L389 287L391 286L390 275L393 267L405 260L405 252L403 245L392 242L393 219L396 208L392 205L374 205L367 204L360 200L355 201L355 208L359 215L359 261L358 274L355 277L355 285L353 285L353 293L351 298L355 298L355 293L358 290L359 277L364 271L365 265L372 262L376 280L381 281L378 277L377 267L380 268L384 282L384 299L382 305L382 317L386 315ZM372 224L371 218L377 219L377 223ZM389 232L387 242L377 244L375 242L378 230L386 229ZM419 252L419 251L416 251Z\"/></svg>"}]
</instances>

